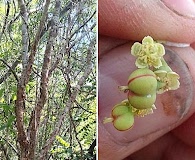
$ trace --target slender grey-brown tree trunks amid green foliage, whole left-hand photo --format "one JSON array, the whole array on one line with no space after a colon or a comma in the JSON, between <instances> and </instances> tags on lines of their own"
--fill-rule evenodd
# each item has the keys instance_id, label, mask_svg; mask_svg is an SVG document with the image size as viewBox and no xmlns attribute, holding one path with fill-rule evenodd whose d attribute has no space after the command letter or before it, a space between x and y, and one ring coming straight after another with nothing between
<instances>
[{"instance_id":1,"label":"slender grey-brown tree trunks amid green foliage, whole left-hand photo","mask_svg":"<svg viewBox=\"0 0 195 160\"><path fill-rule=\"evenodd\" d=\"M0 0L0 159L95 159L96 1Z\"/></svg>"}]
</instances>

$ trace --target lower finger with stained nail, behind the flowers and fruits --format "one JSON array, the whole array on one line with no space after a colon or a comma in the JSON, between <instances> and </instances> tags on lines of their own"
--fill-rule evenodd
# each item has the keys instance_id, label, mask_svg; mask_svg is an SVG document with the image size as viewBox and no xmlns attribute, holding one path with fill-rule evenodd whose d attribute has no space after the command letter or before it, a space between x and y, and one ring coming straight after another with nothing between
<instances>
[{"instance_id":1,"label":"lower finger with stained nail, behind the flowers and fruits","mask_svg":"<svg viewBox=\"0 0 195 160\"><path fill-rule=\"evenodd\" d=\"M135 70L135 59L128 54L129 50L129 44L124 44L102 55L99 60L100 159L125 158L181 124L195 110L191 107L195 105L194 50L190 47L184 50L172 47L166 48L165 59L180 75L180 88L157 95L157 109L151 115L135 118L132 129L118 131L112 123L103 124L103 119L110 116L113 106L127 98L125 93L118 91L118 86L126 85L129 74Z\"/></svg>"}]
</instances>

